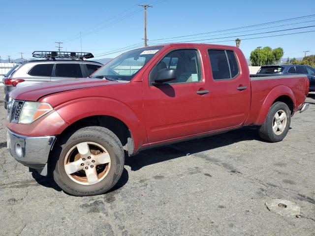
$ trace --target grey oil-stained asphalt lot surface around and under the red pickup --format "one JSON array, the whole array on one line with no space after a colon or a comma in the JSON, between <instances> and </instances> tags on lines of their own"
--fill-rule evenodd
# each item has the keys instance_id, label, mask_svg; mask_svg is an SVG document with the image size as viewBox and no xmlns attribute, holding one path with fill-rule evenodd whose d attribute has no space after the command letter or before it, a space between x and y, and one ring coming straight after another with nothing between
<instances>
[{"instance_id":1,"label":"grey oil-stained asphalt lot surface around and under the red pickup","mask_svg":"<svg viewBox=\"0 0 315 236\"><path fill-rule=\"evenodd\" d=\"M93 197L69 196L10 156L1 101L0 235L314 236L315 93L307 101L283 142L248 127L142 151ZM271 199L296 203L299 218L269 211Z\"/></svg>"}]
</instances>

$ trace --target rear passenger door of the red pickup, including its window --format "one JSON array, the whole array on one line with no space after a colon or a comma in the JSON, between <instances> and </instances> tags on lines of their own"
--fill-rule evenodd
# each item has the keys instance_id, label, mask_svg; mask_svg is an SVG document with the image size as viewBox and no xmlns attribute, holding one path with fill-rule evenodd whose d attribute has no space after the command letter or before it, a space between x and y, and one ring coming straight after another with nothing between
<instances>
[{"instance_id":1,"label":"rear passenger door of the red pickup, including its window","mask_svg":"<svg viewBox=\"0 0 315 236\"><path fill-rule=\"evenodd\" d=\"M211 129L241 126L250 109L248 70L242 71L241 63L232 50L208 49L208 63L212 72L207 78L210 82Z\"/></svg>"}]
</instances>

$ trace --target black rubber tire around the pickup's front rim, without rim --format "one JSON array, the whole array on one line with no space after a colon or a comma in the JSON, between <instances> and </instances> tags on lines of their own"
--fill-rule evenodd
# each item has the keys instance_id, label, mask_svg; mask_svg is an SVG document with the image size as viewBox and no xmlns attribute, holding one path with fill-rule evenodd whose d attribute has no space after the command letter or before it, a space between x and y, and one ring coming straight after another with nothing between
<instances>
[{"instance_id":1,"label":"black rubber tire around the pickup's front rim, without rim","mask_svg":"<svg viewBox=\"0 0 315 236\"><path fill-rule=\"evenodd\" d=\"M99 144L106 148L110 155L111 166L108 174L95 184L77 183L66 174L64 169L64 158L67 152L82 142ZM52 158L54 180L64 192L74 196L91 196L107 192L120 179L125 163L125 153L120 140L112 131L100 126L84 127L63 137L54 147Z\"/></svg>"}]
</instances>

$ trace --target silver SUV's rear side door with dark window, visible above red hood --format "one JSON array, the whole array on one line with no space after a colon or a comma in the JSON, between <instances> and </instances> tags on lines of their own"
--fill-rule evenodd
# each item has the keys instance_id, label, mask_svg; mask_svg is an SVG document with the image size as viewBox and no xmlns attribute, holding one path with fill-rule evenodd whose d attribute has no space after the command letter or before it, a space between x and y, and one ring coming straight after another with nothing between
<instances>
[{"instance_id":1,"label":"silver SUV's rear side door with dark window, visible above red hood","mask_svg":"<svg viewBox=\"0 0 315 236\"><path fill-rule=\"evenodd\" d=\"M51 81L83 78L81 63L56 62Z\"/></svg>"}]
</instances>

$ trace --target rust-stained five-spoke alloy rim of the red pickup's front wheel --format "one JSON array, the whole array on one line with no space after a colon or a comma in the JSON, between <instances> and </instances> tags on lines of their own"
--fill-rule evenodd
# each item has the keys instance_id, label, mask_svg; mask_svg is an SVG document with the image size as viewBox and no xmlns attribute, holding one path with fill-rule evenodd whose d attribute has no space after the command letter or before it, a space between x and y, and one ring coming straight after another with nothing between
<instances>
[{"instance_id":1,"label":"rust-stained five-spoke alloy rim of the red pickup's front wheel","mask_svg":"<svg viewBox=\"0 0 315 236\"><path fill-rule=\"evenodd\" d=\"M110 155L107 150L93 142L83 142L70 148L64 158L64 170L76 183L98 183L109 172Z\"/></svg>"}]
</instances>

